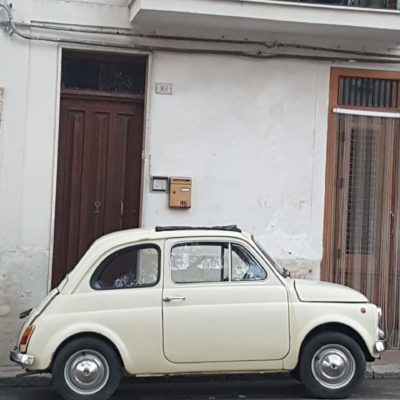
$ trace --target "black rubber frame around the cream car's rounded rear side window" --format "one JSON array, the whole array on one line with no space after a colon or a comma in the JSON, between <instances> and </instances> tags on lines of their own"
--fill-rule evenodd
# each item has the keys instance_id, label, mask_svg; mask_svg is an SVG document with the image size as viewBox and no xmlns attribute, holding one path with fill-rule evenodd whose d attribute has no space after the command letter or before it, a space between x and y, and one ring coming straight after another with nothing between
<instances>
[{"instance_id":1,"label":"black rubber frame around the cream car's rounded rear side window","mask_svg":"<svg viewBox=\"0 0 400 400\"><path fill-rule=\"evenodd\" d=\"M99 276L103 273L106 267L109 265L110 261L113 257L116 257L117 254L123 254L125 252L129 252L131 249L142 250L142 249L155 249L157 251L157 280L152 284L134 286L134 287L95 287L95 283L97 282ZM125 247L121 247L110 254L108 254L105 258L103 258L100 263L95 267L94 272L91 274L89 279L89 286L92 290L96 291L104 291L104 290L124 290L124 289L141 289L141 288L149 288L157 286L161 279L161 248L158 244L155 243L141 243L141 244L131 244Z\"/></svg>"}]
</instances>

